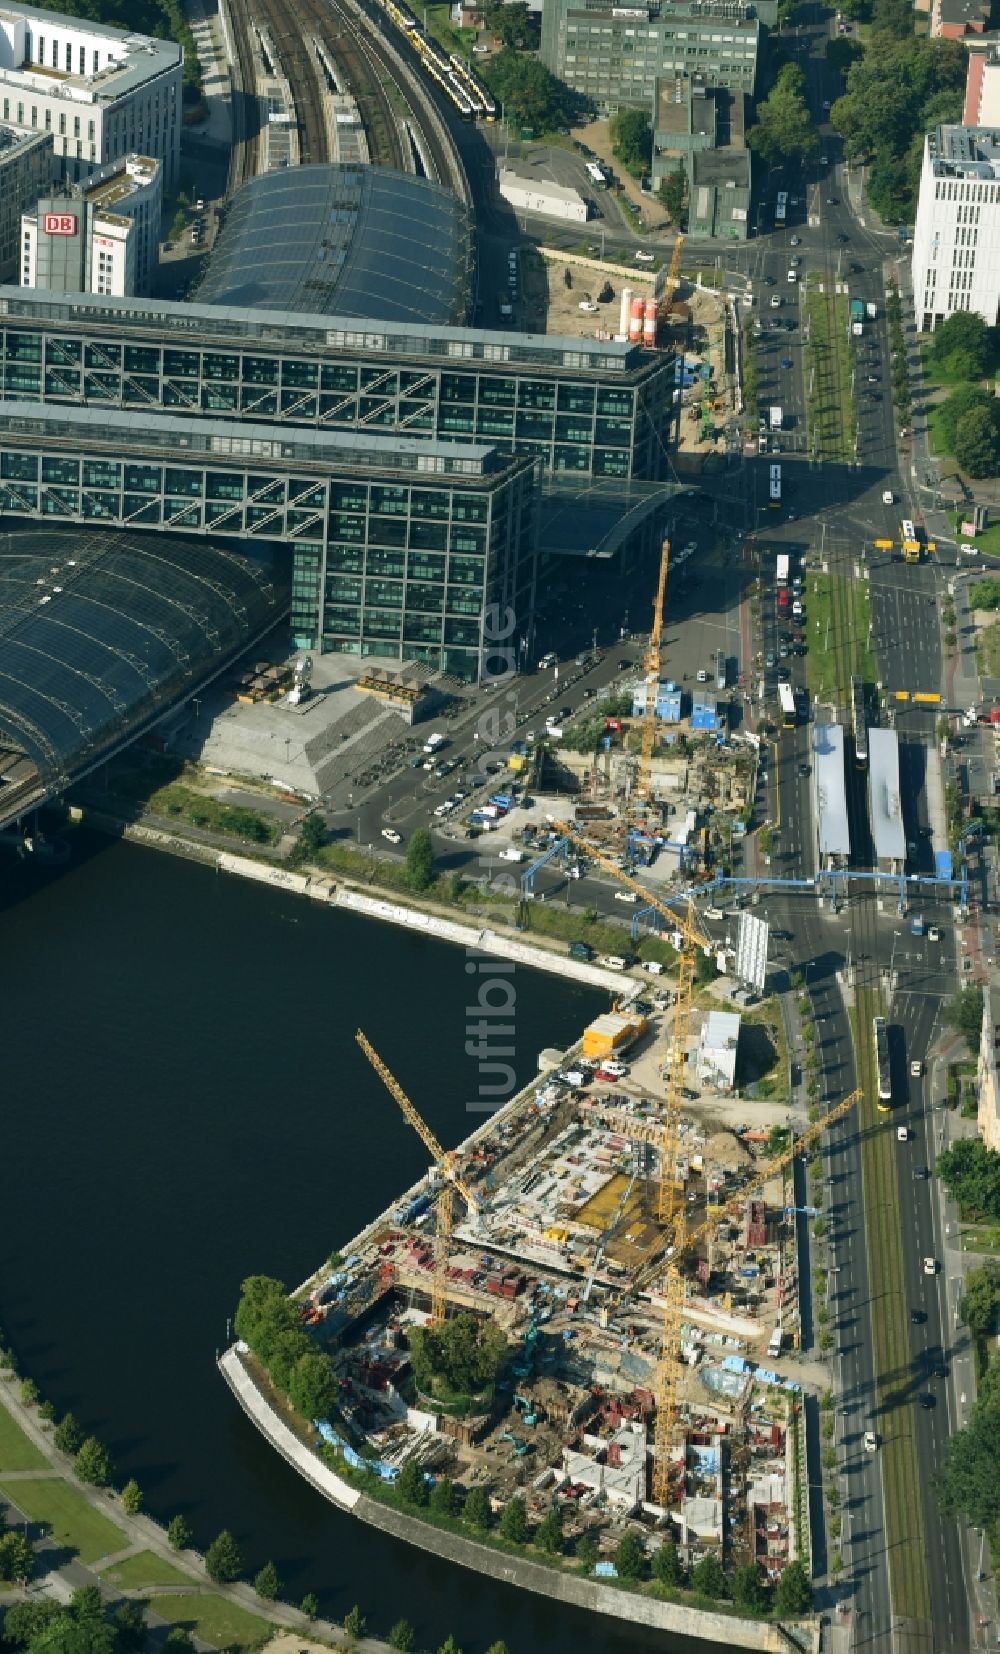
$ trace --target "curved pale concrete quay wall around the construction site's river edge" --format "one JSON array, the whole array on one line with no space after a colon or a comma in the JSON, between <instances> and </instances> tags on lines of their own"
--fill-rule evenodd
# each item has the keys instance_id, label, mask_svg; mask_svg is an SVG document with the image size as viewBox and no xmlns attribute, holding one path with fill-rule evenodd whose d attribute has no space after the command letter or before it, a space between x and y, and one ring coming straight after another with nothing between
<instances>
[{"instance_id":1,"label":"curved pale concrete quay wall around the construction site's river edge","mask_svg":"<svg viewBox=\"0 0 1000 1654\"><path fill-rule=\"evenodd\" d=\"M339 1505L340 1510L350 1510L362 1522L380 1528L383 1533L392 1533L393 1538L405 1540L408 1545L418 1545L435 1556L458 1563L461 1568L486 1573L491 1580L517 1585L522 1591L536 1591L539 1596L549 1596L559 1603L574 1603L577 1608L587 1608L593 1614L608 1614L613 1619L626 1619L631 1624L673 1631L676 1636L701 1637L706 1642L722 1642L734 1649L757 1649L762 1654L788 1654L788 1649L795 1646L802 1649L802 1654L817 1654L820 1647L818 1626L813 1623L795 1626L795 1639L792 1639L777 1624L709 1611L702 1613L683 1603L661 1603L656 1598L640 1596L635 1591L600 1585L597 1580L580 1580L574 1575L564 1575L557 1568L547 1568L544 1563L531 1561L527 1556L507 1556L491 1545L479 1545L461 1533L436 1528L405 1510L380 1505L377 1499L359 1494L357 1489L342 1482L339 1475L293 1436L284 1421L269 1406L266 1396L253 1383L240 1360L238 1345L225 1351L218 1366L246 1416L294 1470L304 1475L324 1499Z\"/></svg>"}]
</instances>

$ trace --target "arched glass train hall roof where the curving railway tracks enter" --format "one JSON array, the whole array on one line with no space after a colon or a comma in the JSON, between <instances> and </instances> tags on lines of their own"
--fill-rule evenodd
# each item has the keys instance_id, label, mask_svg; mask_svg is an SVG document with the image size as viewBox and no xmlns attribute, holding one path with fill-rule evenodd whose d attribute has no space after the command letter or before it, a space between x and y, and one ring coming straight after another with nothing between
<instances>
[{"instance_id":1,"label":"arched glass train hall roof where the curving railway tracks enter","mask_svg":"<svg viewBox=\"0 0 1000 1654\"><path fill-rule=\"evenodd\" d=\"M451 190L383 167L289 167L233 197L198 304L463 323L469 222Z\"/></svg>"}]
</instances>

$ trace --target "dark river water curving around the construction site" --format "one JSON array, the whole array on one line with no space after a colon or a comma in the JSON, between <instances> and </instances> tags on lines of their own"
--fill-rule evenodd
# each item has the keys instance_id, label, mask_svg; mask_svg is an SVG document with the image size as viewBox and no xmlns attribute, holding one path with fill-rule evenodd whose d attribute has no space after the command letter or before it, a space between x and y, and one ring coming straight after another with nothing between
<instances>
[{"instance_id":1,"label":"dark river water curving around the construction site","mask_svg":"<svg viewBox=\"0 0 1000 1654\"><path fill-rule=\"evenodd\" d=\"M426 1168L354 1044L364 1027L443 1143L469 1113L463 949L212 868L74 839L0 865L0 1323L60 1413L106 1441L160 1520L230 1527L250 1575L464 1654L702 1644L514 1591L354 1522L243 1417L215 1370L240 1282L298 1285ZM519 1080L607 996L517 968Z\"/></svg>"}]
</instances>

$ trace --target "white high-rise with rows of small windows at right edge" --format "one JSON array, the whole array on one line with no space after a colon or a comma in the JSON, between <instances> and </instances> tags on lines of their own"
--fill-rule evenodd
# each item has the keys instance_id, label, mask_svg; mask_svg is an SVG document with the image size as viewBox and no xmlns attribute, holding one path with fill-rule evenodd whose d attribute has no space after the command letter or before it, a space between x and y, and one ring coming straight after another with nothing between
<instances>
[{"instance_id":1,"label":"white high-rise with rows of small windows at right edge","mask_svg":"<svg viewBox=\"0 0 1000 1654\"><path fill-rule=\"evenodd\" d=\"M937 126L924 139L912 237L917 327L955 311L992 327L1000 301L1000 127Z\"/></svg>"}]
</instances>

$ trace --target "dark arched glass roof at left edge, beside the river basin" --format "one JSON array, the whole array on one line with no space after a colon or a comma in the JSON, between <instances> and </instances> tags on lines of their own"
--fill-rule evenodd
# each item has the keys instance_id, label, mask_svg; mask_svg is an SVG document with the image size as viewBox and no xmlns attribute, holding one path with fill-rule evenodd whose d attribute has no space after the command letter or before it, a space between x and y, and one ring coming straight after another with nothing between
<instances>
[{"instance_id":1,"label":"dark arched glass roof at left edge, beside the river basin","mask_svg":"<svg viewBox=\"0 0 1000 1654\"><path fill-rule=\"evenodd\" d=\"M203 683L286 600L266 547L253 551L172 534L0 536L0 746L58 789Z\"/></svg>"}]
</instances>

